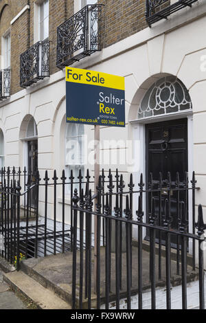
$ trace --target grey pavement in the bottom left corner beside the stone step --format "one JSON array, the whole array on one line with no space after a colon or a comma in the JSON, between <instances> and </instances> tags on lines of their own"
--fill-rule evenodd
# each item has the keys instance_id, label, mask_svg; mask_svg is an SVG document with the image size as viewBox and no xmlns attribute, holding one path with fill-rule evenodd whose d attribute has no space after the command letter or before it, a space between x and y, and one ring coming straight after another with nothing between
<instances>
[{"instance_id":1,"label":"grey pavement in the bottom left corner beside the stone step","mask_svg":"<svg viewBox=\"0 0 206 323\"><path fill-rule=\"evenodd\" d=\"M14 291L3 282L3 271L0 270L0 309L27 309L26 304L16 296Z\"/></svg>"}]
</instances>

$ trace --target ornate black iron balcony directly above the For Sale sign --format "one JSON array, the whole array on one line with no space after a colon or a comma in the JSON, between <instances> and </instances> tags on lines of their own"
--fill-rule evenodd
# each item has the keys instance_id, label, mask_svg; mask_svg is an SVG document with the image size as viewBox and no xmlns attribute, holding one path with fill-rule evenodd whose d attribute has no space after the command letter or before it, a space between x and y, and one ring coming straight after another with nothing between
<instances>
[{"instance_id":1,"label":"ornate black iron balcony directly above the For Sale sign","mask_svg":"<svg viewBox=\"0 0 206 323\"><path fill-rule=\"evenodd\" d=\"M86 5L57 29L57 61L60 69L101 51L104 5Z\"/></svg>"}]
</instances>

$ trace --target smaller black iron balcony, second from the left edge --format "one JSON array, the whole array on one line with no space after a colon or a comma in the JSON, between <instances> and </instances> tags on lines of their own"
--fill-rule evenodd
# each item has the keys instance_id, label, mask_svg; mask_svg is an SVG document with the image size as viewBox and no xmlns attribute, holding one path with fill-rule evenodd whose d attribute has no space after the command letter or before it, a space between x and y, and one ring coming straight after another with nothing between
<instances>
[{"instance_id":1,"label":"smaller black iron balcony, second from the left edge","mask_svg":"<svg viewBox=\"0 0 206 323\"><path fill-rule=\"evenodd\" d=\"M38 41L20 56L20 86L49 77L49 41Z\"/></svg>"}]
</instances>

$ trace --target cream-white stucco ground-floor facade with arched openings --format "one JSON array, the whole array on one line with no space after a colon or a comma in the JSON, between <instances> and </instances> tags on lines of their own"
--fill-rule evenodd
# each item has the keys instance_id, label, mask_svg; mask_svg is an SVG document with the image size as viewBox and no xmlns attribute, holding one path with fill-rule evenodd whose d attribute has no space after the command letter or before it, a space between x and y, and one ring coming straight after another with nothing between
<instances>
[{"instance_id":1,"label":"cream-white stucco ground-floor facade with arched openings","mask_svg":"<svg viewBox=\"0 0 206 323\"><path fill-rule=\"evenodd\" d=\"M101 164L106 171L118 168L128 181L133 172L135 185L140 173L145 174L145 133L146 123L187 118L188 120L188 170L192 171L201 190L196 194L196 205L201 203L206 216L206 3L200 0L192 8L171 15L167 21L159 21L135 34L110 45L102 52L84 58L73 67L93 69L125 77L126 82L126 127L112 129L101 127L100 140L122 140L117 151L129 149L128 141L133 142L134 164ZM19 58L16 59L19 64ZM148 120L138 120L139 104L150 86L163 76L176 76L190 93L192 112L171 113L170 115ZM65 168L65 71L56 71L32 87L17 91L0 103L0 128L5 140L5 166L27 166L25 153L25 132L30 115L38 129L38 169L41 178L45 170L52 178L54 169L58 177ZM93 140L93 126L84 126L87 141ZM112 138L111 138L112 137ZM90 148L92 151L92 147ZM111 149L103 147L104 157ZM89 151L87 151L89 154ZM85 165L91 170L93 166ZM60 188L58 208L61 208ZM41 192L40 192L41 197ZM52 217L53 195L49 194ZM190 199L189 199L190 201ZM66 199L69 208L69 196ZM137 210L137 205L134 205ZM43 214L43 201L40 199L40 212ZM60 209L59 209L60 210ZM58 212L57 212L58 214ZM190 210L191 216L191 210Z\"/></svg>"}]
</instances>

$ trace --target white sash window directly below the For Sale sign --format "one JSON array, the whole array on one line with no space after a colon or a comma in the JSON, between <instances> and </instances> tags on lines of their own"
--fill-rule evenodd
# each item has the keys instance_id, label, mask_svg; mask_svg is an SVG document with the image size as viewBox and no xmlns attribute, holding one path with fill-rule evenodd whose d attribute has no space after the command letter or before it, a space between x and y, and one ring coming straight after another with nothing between
<instances>
[{"instance_id":1,"label":"white sash window directly below the For Sale sign","mask_svg":"<svg viewBox=\"0 0 206 323\"><path fill-rule=\"evenodd\" d=\"M83 124L67 124L65 131L65 166L66 177L71 170L73 177L78 178L79 170L84 176L84 126Z\"/></svg>"}]
</instances>

